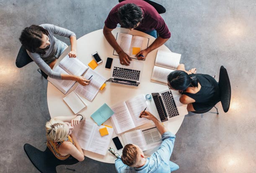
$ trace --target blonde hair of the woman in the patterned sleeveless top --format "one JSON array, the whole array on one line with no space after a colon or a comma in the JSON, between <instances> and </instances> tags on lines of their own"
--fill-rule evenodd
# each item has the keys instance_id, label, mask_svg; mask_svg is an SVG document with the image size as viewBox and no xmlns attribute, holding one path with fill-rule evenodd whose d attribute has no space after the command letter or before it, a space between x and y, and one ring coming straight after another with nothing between
<instances>
[{"instance_id":1,"label":"blonde hair of the woman in the patterned sleeveless top","mask_svg":"<svg viewBox=\"0 0 256 173\"><path fill-rule=\"evenodd\" d=\"M60 142L65 140L68 135L67 125L61 120L49 120L45 125L47 140Z\"/></svg>"}]
</instances>

